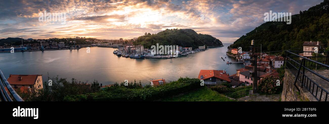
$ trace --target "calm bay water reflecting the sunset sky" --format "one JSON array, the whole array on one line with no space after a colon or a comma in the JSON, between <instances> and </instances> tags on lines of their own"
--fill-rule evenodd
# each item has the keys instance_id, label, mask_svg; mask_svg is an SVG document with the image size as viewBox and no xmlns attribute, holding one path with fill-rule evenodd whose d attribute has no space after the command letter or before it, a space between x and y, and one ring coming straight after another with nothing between
<instances>
[{"instance_id":1,"label":"calm bay water reflecting the sunset sky","mask_svg":"<svg viewBox=\"0 0 329 124\"><path fill-rule=\"evenodd\" d=\"M59 75L62 78L76 78L80 81L93 81L103 85L141 80L146 84L151 79L164 78L167 81L179 77L197 78L200 70L223 70L229 74L243 64L228 65L225 61L235 61L226 55L227 46L211 48L208 51L189 54L173 59L131 59L113 54L113 48L86 48L80 50L58 50L44 52L0 53L0 69L8 78L9 74L43 74L43 81ZM227 57L225 61L221 57Z\"/></svg>"}]
</instances>

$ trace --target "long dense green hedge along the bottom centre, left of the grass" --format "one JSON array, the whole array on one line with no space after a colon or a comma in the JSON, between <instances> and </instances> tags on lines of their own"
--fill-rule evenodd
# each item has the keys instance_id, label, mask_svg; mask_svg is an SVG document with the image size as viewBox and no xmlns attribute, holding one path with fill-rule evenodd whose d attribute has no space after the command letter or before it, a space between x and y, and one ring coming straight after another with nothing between
<instances>
[{"instance_id":1,"label":"long dense green hedge along the bottom centre, left of the grass","mask_svg":"<svg viewBox=\"0 0 329 124\"><path fill-rule=\"evenodd\" d=\"M95 93L67 95L64 101L152 101L201 88L196 78L179 78L157 87L128 88L121 85Z\"/></svg>"}]
</instances>

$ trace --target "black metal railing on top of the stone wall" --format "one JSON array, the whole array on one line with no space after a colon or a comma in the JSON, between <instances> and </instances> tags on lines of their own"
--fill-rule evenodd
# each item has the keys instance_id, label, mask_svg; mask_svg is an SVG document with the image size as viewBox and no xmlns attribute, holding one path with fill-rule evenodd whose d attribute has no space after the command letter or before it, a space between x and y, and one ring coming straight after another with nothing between
<instances>
[{"instance_id":1,"label":"black metal railing on top of the stone wall","mask_svg":"<svg viewBox=\"0 0 329 124\"><path fill-rule=\"evenodd\" d=\"M297 80L301 82L301 88L306 88L317 101L327 101L328 91L319 85L319 83L329 84L329 79L319 74L317 71L329 69L329 52L318 52L313 54L310 52L308 55L301 56L299 53L303 51L286 51L285 68L295 75L294 85L297 90L300 89L296 86ZM313 76L311 76L313 75ZM321 82L316 82L314 78L318 78Z\"/></svg>"}]
</instances>

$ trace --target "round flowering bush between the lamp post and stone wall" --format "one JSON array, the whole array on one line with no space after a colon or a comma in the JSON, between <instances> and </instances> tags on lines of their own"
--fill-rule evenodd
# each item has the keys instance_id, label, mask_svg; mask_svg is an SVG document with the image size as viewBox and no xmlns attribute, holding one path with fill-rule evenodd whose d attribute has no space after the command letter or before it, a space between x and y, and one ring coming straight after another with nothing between
<instances>
[{"instance_id":1,"label":"round flowering bush between the lamp post and stone wall","mask_svg":"<svg viewBox=\"0 0 329 124\"><path fill-rule=\"evenodd\" d=\"M282 88L282 82L280 81L280 86L276 85L276 80L278 77L273 75L266 76L265 78L261 79L258 82L258 92L259 93L267 93L267 94L274 94L278 93Z\"/></svg>"}]
</instances>

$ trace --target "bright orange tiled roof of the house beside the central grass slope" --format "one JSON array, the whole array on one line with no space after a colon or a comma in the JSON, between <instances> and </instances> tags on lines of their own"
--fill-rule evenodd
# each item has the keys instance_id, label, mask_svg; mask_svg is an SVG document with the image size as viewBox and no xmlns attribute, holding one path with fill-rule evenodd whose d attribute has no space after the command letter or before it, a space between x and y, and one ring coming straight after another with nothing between
<instances>
[{"instance_id":1,"label":"bright orange tiled roof of the house beside the central grass slope","mask_svg":"<svg viewBox=\"0 0 329 124\"><path fill-rule=\"evenodd\" d=\"M208 79L211 77L216 77L228 82L231 82L229 76L226 74L226 72L222 71L222 70L200 70L199 76L198 78L201 80L201 75L203 75L203 80L204 79Z\"/></svg>"}]
</instances>

